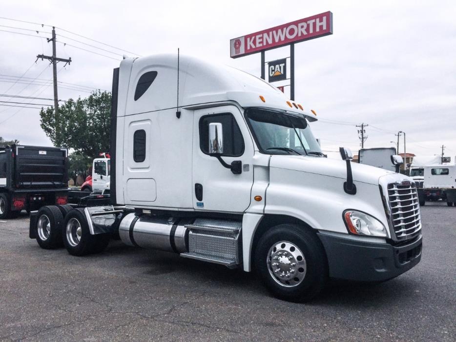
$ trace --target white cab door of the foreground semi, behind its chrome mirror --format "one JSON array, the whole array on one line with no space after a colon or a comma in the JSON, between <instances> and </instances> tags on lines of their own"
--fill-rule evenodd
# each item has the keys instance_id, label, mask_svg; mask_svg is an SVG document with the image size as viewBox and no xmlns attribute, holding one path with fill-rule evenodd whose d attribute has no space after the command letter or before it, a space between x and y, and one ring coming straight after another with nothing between
<instances>
[{"instance_id":1,"label":"white cab door of the foreground semi, behind its chrome mirror","mask_svg":"<svg viewBox=\"0 0 456 342\"><path fill-rule=\"evenodd\" d=\"M227 164L240 161L240 174L233 174L209 155L209 123L222 124L221 159ZM244 212L250 204L254 151L240 110L236 106L195 110L193 129L193 207L204 211Z\"/></svg>"}]
</instances>

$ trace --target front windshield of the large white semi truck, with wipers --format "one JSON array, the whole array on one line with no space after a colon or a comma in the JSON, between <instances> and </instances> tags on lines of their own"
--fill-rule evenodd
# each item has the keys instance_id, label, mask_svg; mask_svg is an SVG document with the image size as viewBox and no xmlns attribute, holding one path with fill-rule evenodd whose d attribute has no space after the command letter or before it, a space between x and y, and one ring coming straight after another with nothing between
<instances>
[{"instance_id":1,"label":"front windshield of the large white semi truck, with wipers","mask_svg":"<svg viewBox=\"0 0 456 342\"><path fill-rule=\"evenodd\" d=\"M306 119L259 108L247 109L245 116L262 153L323 156Z\"/></svg>"}]
</instances>

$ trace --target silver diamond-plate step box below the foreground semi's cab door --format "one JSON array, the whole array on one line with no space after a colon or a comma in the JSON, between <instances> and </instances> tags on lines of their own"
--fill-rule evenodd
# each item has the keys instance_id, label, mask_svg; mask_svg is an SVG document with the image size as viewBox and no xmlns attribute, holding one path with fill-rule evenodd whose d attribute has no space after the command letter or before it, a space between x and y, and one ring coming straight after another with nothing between
<instances>
[{"instance_id":1,"label":"silver diamond-plate step box below the foreground semi's cab door","mask_svg":"<svg viewBox=\"0 0 456 342\"><path fill-rule=\"evenodd\" d=\"M188 252L184 258L234 267L240 264L241 221L196 219L188 230Z\"/></svg>"}]
</instances>

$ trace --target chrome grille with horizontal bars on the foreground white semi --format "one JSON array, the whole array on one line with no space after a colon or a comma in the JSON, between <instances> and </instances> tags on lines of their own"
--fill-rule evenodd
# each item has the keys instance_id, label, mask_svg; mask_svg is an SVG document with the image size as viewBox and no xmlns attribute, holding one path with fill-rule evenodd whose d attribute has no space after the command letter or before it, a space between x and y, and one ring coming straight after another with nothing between
<instances>
[{"instance_id":1,"label":"chrome grille with horizontal bars on the foreground white semi","mask_svg":"<svg viewBox=\"0 0 456 342\"><path fill-rule=\"evenodd\" d=\"M419 201L413 182L388 184L391 222L397 240L412 238L421 230Z\"/></svg>"}]
</instances>

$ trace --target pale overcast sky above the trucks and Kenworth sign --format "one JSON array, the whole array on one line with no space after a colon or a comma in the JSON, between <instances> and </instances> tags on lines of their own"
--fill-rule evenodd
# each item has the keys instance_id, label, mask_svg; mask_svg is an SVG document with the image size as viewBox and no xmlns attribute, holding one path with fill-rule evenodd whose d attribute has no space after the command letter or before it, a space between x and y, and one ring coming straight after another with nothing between
<instances>
[{"instance_id":1,"label":"pale overcast sky above the trucks and Kenworth sign","mask_svg":"<svg viewBox=\"0 0 456 342\"><path fill-rule=\"evenodd\" d=\"M445 155L453 161L456 2L341 2L16 0L4 1L0 16L57 26L57 34L67 37L57 37L58 57L73 60L65 68L59 63L59 81L110 90L112 69L119 66L124 52L62 29L130 51L126 53L129 56L175 53L180 47L182 54L201 56L260 76L260 54L229 58L231 38L332 11L333 35L295 46L295 98L306 109L314 109L321 119L312 124L312 129L321 138L323 150L346 146L356 153L359 139L355 124L365 122L370 125L366 128L365 147L394 146L394 133L401 130L406 132L407 152L439 154L444 144ZM50 37L46 33L49 27L4 19L0 19L0 25L0 30L37 36L16 28L34 29L44 31L40 36ZM34 63L37 54L51 55L51 43L44 38L2 31L0 37L0 94L52 98L52 83L43 86L24 81L25 77L31 81L40 73L35 83L52 79L48 62ZM288 56L289 48L266 52L267 61ZM11 82L14 78L4 76L19 77L26 70L24 79L16 84ZM59 88L62 100L88 95L81 90ZM0 101L30 100L0 96ZM38 109L0 105L0 137L18 139L23 144L50 145L40 128L38 113ZM403 152L403 138L399 148Z\"/></svg>"}]
</instances>

